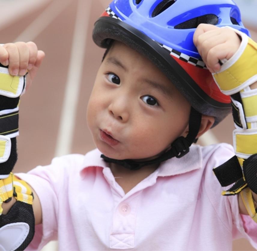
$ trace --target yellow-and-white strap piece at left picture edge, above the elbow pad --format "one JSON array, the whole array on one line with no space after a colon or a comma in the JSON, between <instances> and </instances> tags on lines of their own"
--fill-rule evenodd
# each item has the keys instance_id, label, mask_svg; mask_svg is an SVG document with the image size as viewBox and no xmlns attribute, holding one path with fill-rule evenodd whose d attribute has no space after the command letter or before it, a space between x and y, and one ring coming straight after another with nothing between
<instances>
[{"instance_id":1,"label":"yellow-and-white strap piece at left picture edge, above the elbow pad","mask_svg":"<svg viewBox=\"0 0 257 251\"><path fill-rule=\"evenodd\" d=\"M13 197L13 173L8 178L0 180L0 215L3 212L2 203Z\"/></svg>"}]
</instances>

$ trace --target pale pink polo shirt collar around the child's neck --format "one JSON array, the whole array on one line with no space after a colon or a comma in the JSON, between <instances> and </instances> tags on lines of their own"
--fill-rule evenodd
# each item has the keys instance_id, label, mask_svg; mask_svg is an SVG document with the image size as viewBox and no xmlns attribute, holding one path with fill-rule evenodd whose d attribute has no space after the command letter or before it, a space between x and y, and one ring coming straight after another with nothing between
<instances>
[{"instance_id":1,"label":"pale pink polo shirt collar around the child's neck","mask_svg":"<svg viewBox=\"0 0 257 251\"><path fill-rule=\"evenodd\" d=\"M106 163L100 156L101 152L98 149L88 152L84 158L81 171L88 167L109 168L108 163ZM174 157L161 163L157 176L164 177L183 174L195 169L200 169L201 167L201 148L198 145L192 145L189 153L182 158L178 159Z\"/></svg>"}]
</instances>

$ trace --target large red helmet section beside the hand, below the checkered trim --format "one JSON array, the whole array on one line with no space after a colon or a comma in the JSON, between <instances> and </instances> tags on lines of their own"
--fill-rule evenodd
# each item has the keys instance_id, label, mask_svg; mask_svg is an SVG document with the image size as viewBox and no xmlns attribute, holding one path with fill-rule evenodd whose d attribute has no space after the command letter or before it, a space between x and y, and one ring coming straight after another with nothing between
<instances>
[{"instance_id":1,"label":"large red helmet section beside the hand, below the checkered trim","mask_svg":"<svg viewBox=\"0 0 257 251\"><path fill-rule=\"evenodd\" d=\"M215 81L213 80L213 76L208 69L196 67L178 59L177 57L172 57L177 61L178 64L180 64L180 66L183 67L189 76L209 97L221 103L231 103L230 97L223 94L219 90L219 87L216 85Z\"/></svg>"}]
</instances>

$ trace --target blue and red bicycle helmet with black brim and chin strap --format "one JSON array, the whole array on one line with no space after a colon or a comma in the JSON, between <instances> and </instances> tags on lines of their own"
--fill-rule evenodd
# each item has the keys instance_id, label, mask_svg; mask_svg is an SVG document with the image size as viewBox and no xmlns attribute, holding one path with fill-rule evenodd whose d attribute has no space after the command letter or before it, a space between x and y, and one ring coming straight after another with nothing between
<instances>
[{"instance_id":1,"label":"blue and red bicycle helmet with black brim and chin strap","mask_svg":"<svg viewBox=\"0 0 257 251\"><path fill-rule=\"evenodd\" d=\"M186 137L188 142L176 142L177 148L183 149L183 154L181 150L171 154L177 157L183 156L195 140L201 121L197 113L213 116L215 126L231 112L230 97L221 93L193 44L200 23L230 26L249 36L232 0L114 0L93 29L98 46L108 48L110 41L117 40L135 49L151 60L190 102L189 132L190 127L195 129ZM129 162L131 165L134 164Z\"/></svg>"}]
</instances>

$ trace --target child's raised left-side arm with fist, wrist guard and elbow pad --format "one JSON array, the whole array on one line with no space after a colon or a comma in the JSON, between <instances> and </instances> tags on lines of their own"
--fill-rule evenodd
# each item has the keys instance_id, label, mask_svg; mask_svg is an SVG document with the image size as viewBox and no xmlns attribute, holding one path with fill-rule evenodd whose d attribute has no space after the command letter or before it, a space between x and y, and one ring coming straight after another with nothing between
<instances>
[{"instance_id":1,"label":"child's raised left-side arm with fist, wrist guard and elbow pad","mask_svg":"<svg viewBox=\"0 0 257 251\"><path fill-rule=\"evenodd\" d=\"M44 52L32 42L0 45L0 240L5 239L5 250L24 250L42 218L38 196L12 170L17 160L20 96L31 85L43 58ZM9 233L16 229L20 233L13 238Z\"/></svg>"}]
</instances>

